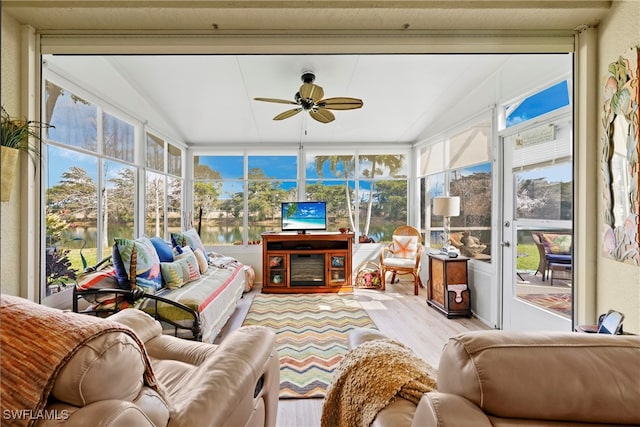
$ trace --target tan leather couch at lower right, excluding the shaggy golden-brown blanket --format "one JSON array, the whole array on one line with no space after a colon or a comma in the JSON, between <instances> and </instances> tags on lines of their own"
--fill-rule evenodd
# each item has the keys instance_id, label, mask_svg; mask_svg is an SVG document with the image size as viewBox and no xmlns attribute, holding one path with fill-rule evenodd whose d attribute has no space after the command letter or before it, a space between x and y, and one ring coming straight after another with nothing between
<instances>
[{"instance_id":1,"label":"tan leather couch at lower right, excluding the shaggy golden-brown blanket","mask_svg":"<svg viewBox=\"0 0 640 427\"><path fill-rule=\"evenodd\" d=\"M383 337L356 330L350 345ZM438 391L398 399L376 427L640 425L640 337L476 331L452 337Z\"/></svg>"}]
</instances>

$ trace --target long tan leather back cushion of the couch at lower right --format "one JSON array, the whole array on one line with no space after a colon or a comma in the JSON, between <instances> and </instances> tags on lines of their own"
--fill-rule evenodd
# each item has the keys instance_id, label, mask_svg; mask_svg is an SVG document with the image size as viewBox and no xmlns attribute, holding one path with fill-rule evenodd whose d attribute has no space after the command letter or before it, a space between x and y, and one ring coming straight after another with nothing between
<instances>
[{"instance_id":1,"label":"long tan leather back cushion of the couch at lower right","mask_svg":"<svg viewBox=\"0 0 640 427\"><path fill-rule=\"evenodd\" d=\"M640 424L638 372L637 337L476 331L447 342L438 392L497 417Z\"/></svg>"}]
</instances>

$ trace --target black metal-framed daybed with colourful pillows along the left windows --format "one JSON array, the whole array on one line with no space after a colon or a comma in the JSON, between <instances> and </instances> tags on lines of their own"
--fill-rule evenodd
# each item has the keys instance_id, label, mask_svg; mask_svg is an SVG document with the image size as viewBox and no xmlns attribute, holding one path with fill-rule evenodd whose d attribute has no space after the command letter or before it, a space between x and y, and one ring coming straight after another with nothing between
<instances>
[{"instance_id":1,"label":"black metal-framed daybed with colourful pillows along the left windows","mask_svg":"<svg viewBox=\"0 0 640 427\"><path fill-rule=\"evenodd\" d=\"M254 272L236 259L205 255L195 230L160 238L116 239L112 266L82 277L73 311L108 315L136 307L160 320L165 333L213 342ZM89 306L81 308L86 300Z\"/></svg>"}]
</instances>

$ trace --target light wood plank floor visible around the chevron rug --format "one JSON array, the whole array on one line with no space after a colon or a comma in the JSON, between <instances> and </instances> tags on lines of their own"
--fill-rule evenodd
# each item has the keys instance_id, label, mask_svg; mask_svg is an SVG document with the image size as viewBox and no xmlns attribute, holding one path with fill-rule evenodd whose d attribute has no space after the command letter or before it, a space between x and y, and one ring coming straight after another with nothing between
<instances>
[{"instance_id":1,"label":"light wood plank floor visible around the chevron rug","mask_svg":"<svg viewBox=\"0 0 640 427\"><path fill-rule=\"evenodd\" d=\"M245 294L216 341L224 340L242 325L251 301L260 289ZM426 290L413 295L413 284L402 281L387 284L387 290L356 289L358 301L378 329L387 336L405 343L419 357L437 367L442 346L457 333L489 329L475 318L447 319L426 303ZM278 427L318 427L322 399L281 399L278 407Z\"/></svg>"}]
</instances>

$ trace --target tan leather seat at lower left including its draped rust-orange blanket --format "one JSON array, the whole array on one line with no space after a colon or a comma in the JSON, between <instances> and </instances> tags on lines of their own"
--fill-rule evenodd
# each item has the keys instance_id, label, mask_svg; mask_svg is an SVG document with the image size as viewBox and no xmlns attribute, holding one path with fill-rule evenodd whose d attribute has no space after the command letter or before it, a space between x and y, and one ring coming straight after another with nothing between
<instances>
[{"instance_id":1,"label":"tan leather seat at lower left including its draped rust-orange blanket","mask_svg":"<svg viewBox=\"0 0 640 427\"><path fill-rule=\"evenodd\" d=\"M141 310L96 318L0 297L2 425L274 427L275 334L220 345L162 334Z\"/></svg>"}]
</instances>

